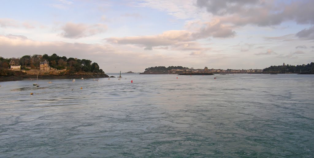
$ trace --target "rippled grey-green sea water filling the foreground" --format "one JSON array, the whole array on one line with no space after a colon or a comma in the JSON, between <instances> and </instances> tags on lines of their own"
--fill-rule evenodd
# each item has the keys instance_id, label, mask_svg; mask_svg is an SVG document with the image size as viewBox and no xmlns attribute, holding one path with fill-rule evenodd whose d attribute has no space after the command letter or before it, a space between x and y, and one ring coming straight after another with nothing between
<instances>
[{"instance_id":1,"label":"rippled grey-green sea water filling the foreground","mask_svg":"<svg viewBox=\"0 0 314 158\"><path fill-rule=\"evenodd\" d=\"M314 75L215 76L1 82L0 157L314 156Z\"/></svg>"}]
</instances>

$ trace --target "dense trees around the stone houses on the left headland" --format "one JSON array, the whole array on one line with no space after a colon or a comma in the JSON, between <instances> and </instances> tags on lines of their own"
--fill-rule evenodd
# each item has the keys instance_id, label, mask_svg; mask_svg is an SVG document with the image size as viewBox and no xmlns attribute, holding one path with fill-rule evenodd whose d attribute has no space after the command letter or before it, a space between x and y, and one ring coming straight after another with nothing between
<instances>
[{"instance_id":1,"label":"dense trees around the stone houses on the left headland","mask_svg":"<svg viewBox=\"0 0 314 158\"><path fill-rule=\"evenodd\" d=\"M65 56L60 57L57 54L52 54L51 56L44 54L38 55L34 54L32 56L25 55L21 58L3 58L0 57L0 68L9 68L10 61L13 60L16 65L21 65L21 69L39 69L40 62L44 62L45 60L49 62L49 66L51 68L55 68L57 70L67 68L69 73L85 71L85 72L100 72L103 70L99 68L97 63L92 63L91 60L88 59L78 59L78 58L67 58Z\"/></svg>"}]
</instances>

